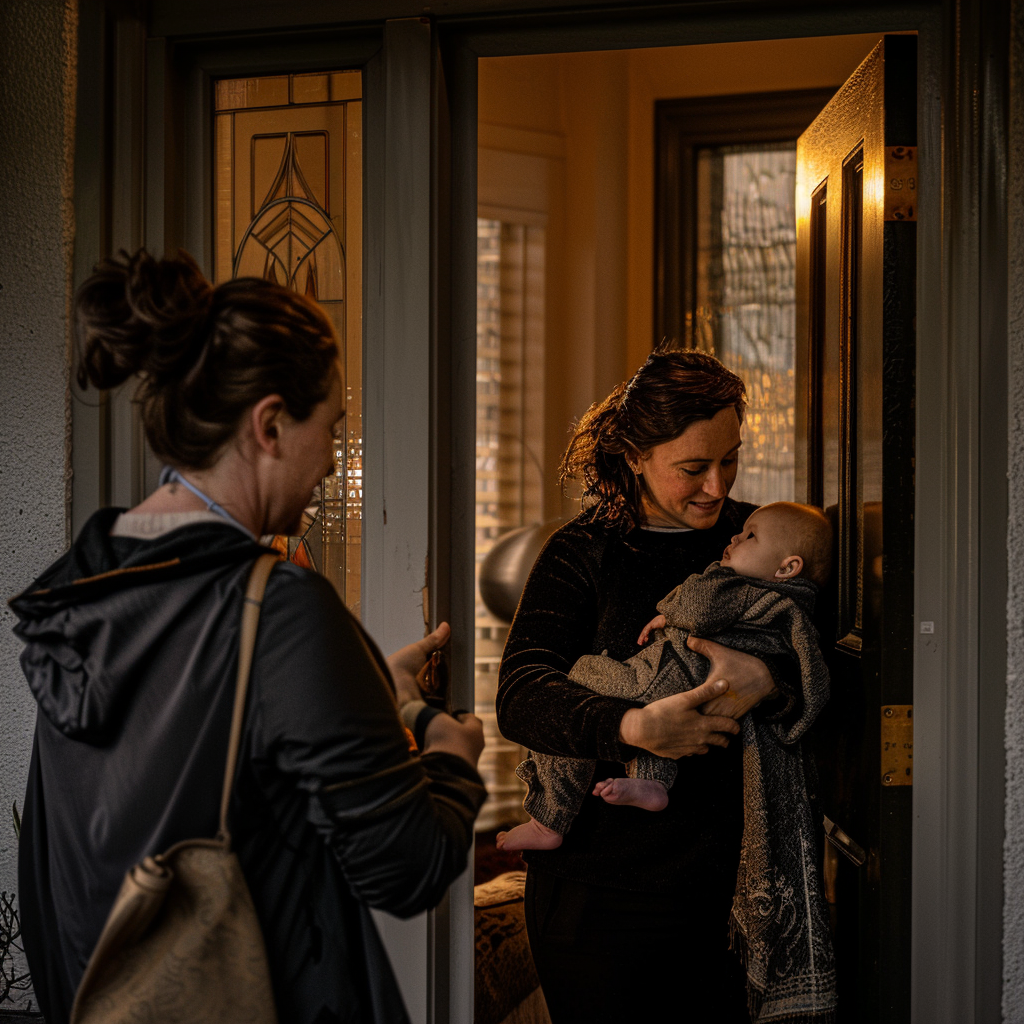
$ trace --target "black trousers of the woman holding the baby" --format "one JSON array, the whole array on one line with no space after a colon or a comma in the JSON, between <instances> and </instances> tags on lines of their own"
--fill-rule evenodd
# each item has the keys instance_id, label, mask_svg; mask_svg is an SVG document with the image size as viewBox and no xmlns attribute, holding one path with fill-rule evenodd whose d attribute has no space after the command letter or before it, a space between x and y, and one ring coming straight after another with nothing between
<instances>
[{"instance_id":1,"label":"black trousers of the woman holding the baby","mask_svg":"<svg viewBox=\"0 0 1024 1024\"><path fill-rule=\"evenodd\" d=\"M638 893L530 868L526 933L552 1024L749 1024L731 893L694 889Z\"/></svg>"}]
</instances>

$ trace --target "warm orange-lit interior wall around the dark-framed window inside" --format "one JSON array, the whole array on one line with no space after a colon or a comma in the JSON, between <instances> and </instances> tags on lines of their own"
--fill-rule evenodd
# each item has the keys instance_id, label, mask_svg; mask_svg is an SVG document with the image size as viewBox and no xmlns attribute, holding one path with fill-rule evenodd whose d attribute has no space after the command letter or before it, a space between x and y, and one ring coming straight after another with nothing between
<instances>
[{"instance_id":1,"label":"warm orange-lit interior wall around the dark-framed window inside","mask_svg":"<svg viewBox=\"0 0 1024 1024\"><path fill-rule=\"evenodd\" d=\"M841 85L876 35L783 39L480 60L488 128L561 141L564 217L549 238L544 466L549 514L571 423L639 367L653 331L654 101ZM503 145L514 152L510 138ZM492 155L493 159L493 155ZM482 166L482 164L481 164Z\"/></svg>"}]
</instances>

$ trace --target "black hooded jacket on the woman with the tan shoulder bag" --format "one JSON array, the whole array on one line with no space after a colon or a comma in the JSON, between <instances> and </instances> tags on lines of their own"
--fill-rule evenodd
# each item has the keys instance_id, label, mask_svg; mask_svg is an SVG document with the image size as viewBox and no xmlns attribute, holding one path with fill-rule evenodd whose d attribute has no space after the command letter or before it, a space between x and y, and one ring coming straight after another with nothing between
<instances>
[{"instance_id":1,"label":"black hooded jacket on the woman with the tan shoulder bag","mask_svg":"<svg viewBox=\"0 0 1024 1024\"><path fill-rule=\"evenodd\" d=\"M19 849L29 966L50 1024L125 871L217 830L243 593L227 524L112 538L96 513L11 601L39 705ZM283 1022L403 1022L368 907L408 916L462 871L484 799L460 758L409 754L387 669L331 584L274 567L231 806Z\"/></svg>"}]
</instances>

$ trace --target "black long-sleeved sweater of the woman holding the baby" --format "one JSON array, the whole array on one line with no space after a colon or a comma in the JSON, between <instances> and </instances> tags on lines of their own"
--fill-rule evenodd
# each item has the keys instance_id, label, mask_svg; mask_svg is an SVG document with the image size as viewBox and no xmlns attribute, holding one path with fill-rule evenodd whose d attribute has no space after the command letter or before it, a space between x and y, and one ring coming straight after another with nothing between
<instances>
[{"instance_id":1,"label":"black long-sleeved sweater of the woman holding the baby","mask_svg":"<svg viewBox=\"0 0 1024 1024\"><path fill-rule=\"evenodd\" d=\"M636 748L618 741L632 701L598 696L567 673L582 654L625 659L656 604L702 572L755 506L726 500L710 529L624 531L583 513L548 542L509 632L498 686L498 724L532 751L596 758L595 778L624 774ZM668 808L657 814L588 796L561 847L530 866L592 885L640 891L688 886L731 892L743 825L740 745L681 759Z\"/></svg>"}]
</instances>

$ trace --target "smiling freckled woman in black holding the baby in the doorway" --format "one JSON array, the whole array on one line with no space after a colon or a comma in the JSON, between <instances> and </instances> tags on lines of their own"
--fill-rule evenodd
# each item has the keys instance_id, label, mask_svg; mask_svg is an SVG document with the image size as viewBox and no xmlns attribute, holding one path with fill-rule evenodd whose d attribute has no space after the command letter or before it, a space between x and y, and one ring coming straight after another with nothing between
<instances>
[{"instance_id":1,"label":"smiling freckled woman in black holding the baby in the doorway","mask_svg":"<svg viewBox=\"0 0 1024 1024\"><path fill-rule=\"evenodd\" d=\"M763 662L711 641L708 681L646 706L568 679L584 654L625 660L657 602L719 559L754 506L732 501L742 381L697 351L652 354L593 406L562 460L584 511L555 532L509 632L498 724L531 751L621 777L646 750L680 759L668 808L590 796L561 844L525 854L526 926L554 1024L749 1020L728 922L743 823L736 719L795 696ZM725 682L727 681L727 683Z\"/></svg>"}]
</instances>

